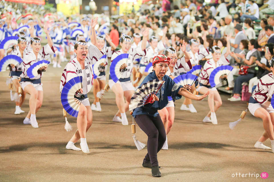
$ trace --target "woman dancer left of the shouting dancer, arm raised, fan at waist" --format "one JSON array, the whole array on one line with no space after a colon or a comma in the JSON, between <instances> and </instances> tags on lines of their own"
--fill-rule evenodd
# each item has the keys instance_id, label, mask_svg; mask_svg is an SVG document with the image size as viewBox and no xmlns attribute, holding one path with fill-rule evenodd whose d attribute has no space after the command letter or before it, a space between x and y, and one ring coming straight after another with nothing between
<instances>
[{"instance_id":1,"label":"woman dancer left of the shouting dancer, arm raised, fan at waist","mask_svg":"<svg viewBox=\"0 0 274 182\"><path fill-rule=\"evenodd\" d=\"M53 42L51 37L49 36L47 25L44 26L44 32L47 35L48 44L42 47L41 49L41 41L39 38L31 38L31 47L32 51L27 53L23 57L22 64L22 74L21 74L21 87L23 91L27 94L30 94L29 98L29 113L24 120L24 123L31 123L31 126L34 128L38 128L38 123L36 121L36 113L40 109L43 103L43 87L41 84L41 77L43 75L42 70L45 70L47 66L39 69L40 74L35 78L29 78L27 75L27 69L37 61L41 61L43 59L48 59L50 55L54 54ZM27 121L28 120L28 121Z\"/></svg>"}]
</instances>

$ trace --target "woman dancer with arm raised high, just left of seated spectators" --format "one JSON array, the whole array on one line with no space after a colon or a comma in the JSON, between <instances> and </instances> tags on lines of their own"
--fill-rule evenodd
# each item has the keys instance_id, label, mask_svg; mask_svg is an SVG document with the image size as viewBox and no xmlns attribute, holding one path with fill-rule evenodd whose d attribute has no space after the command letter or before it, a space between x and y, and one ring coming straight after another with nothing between
<instances>
[{"instance_id":1,"label":"woman dancer with arm raised high, just left of seated spectators","mask_svg":"<svg viewBox=\"0 0 274 182\"><path fill-rule=\"evenodd\" d=\"M209 113L206 115L206 117L203 119L203 122L207 123L213 123L217 125L217 117L215 112L219 109L219 107L222 105L221 96L219 95L219 92L215 87L211 87L209 84L209 76L211 72L221 66L221 65L229 65L229 61L226 59L227 55L230 53L230 39L231 36L226 37L227 41L227 51L222 56L221 55L221 48L218 46L213 46L211 49L212 59L209 59L206 64L204 65L204 69L199 75L198 81L200 82L200 85L197 88L197 91L201 94L204 94L206 92L209 92L208 95L208 106L209 106ZM225 77L226 78L226 77ZM215 106L214 106L215 102ZM211 118L211 120L209 119Z\"/></svg>"}]
</instances>

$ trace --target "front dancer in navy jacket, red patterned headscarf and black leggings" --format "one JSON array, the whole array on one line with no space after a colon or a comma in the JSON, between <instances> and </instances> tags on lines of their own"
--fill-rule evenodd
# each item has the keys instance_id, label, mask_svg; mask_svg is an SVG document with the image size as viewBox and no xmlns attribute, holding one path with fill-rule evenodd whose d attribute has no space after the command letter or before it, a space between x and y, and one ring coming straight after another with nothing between
<instances>
[{"instance_id":1,"label":"front dancer in navy jacket, red patterned headscarf and black leggings","mask_svg":"<svg viewBox=\"0 0 274 182\"><path fill-rule=\"evenodd\" d=\"M164 80L166 82L157 94L153 95L155 100L153 104L137 107L133 110L132 114L138 126L148 135L148 153L142 165L143 167L152 168L151 173L153 177L161 177L157 153L161 150L166 140L165 128L158 110L166 107L168 96L171 96L172 100L180 99L182 96L194 100L202 100L209 94L207 92L203 96L196 97L181 85L176 84L169 76L165 75L169 64L170 58L165 55L157 55L153 58L152 65L154 71L146 76L142 84L153 79Z\"/></svg>"}]
</instances>

